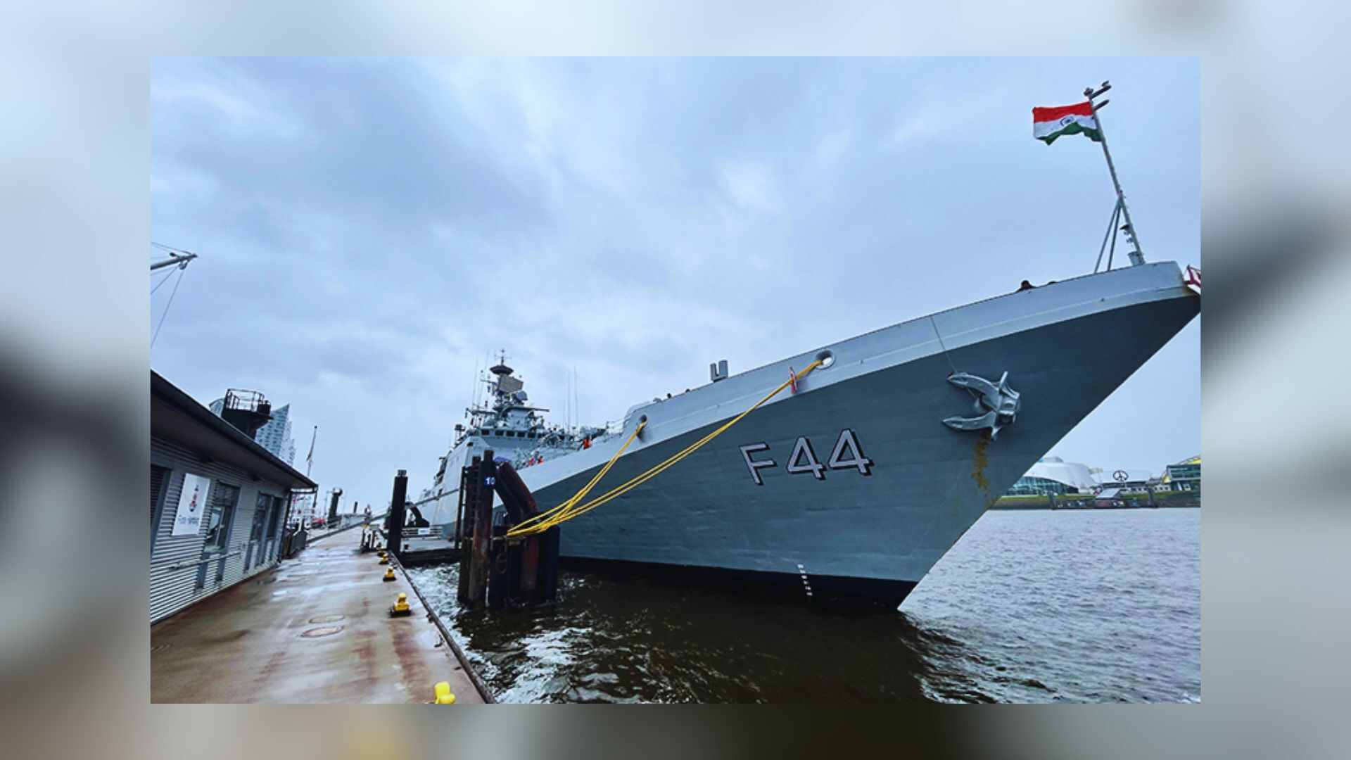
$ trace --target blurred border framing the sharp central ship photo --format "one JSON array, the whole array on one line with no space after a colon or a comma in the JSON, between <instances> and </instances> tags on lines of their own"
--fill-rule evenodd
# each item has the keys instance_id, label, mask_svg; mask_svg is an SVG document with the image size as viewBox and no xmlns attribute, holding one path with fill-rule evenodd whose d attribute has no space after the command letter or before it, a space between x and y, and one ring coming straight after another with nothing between
<instances>
[{"instance_id":1,"label":"blurred border framing the sharp central ship photo","mask_svg":"<svg viewBox=\"0 0 1351 760\"><path fill-rule=\"evenodd\" d=\"M14 108L0 147L9 191L0 204L9 238L0 384L12 430L32 434L4 444L0 472L63 476L58 488L11 480L7 499L16 540L0 573L11 609L0 726L11 746L16 756L104 757L408 756L478 746L563 756L869 746L1002 757L1336 756L1351 738L1337 707L1351 580L1337 475L1351 445L1336 398L1348 360L1331 348L1348 316L1340 296L1351 284L1351 172L1339 138L1282 116L1298 99L1319 103L1323 123L1346 123L1340 99L1316 100L1346 81L1336 38L1346 15L1333 4L1275 12L1209 1L1038 14L855 3L11 11L0 31L0 81ZM104 519L104 510L145 504L149 490L143 257L153 55L1073 55L1104 47L1202 62L1201 247L1212 314L1202 331L1200 705L536 706L435 717L430 707L149 705L149 536ZM1308 142L1319 139L1336 142L1323 161L1309 156ZM58 510L43 513L55 515L50 521L70 514L92 527L41 530L31 521L36 504Z\"/></svg>"}]
</instances>

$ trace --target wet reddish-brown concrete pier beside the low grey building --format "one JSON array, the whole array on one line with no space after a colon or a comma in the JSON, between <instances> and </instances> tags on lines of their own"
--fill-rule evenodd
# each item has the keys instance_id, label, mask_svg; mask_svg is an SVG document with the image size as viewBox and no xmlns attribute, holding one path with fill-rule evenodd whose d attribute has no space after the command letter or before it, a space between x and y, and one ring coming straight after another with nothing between
<instances>
[{"instance_id":1,"label":"wet reddish-brown concrete pier beside the low grey building","mask_svg":"<svg viewBox=\"0 0 1351 760\"><path fill-rule=\"evenodd\" d=\"M454 645L397 565L335 536L150 629L151 702L480 703ZM394 567L394 581L381 577ZM411 617L386 610L404 592Z\"/></svg>"}]
</instances>

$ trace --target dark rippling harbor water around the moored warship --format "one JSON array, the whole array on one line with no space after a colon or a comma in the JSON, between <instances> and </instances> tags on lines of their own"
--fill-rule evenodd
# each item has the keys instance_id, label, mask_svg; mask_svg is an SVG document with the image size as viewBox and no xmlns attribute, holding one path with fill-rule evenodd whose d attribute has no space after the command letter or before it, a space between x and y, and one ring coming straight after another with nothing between
<instances>
[{"instance_id":1,"label":"dark rippling harbor water around the moored warship","mask_svg":"<svg viewBox=\"0 0 1351 760\"><path fill-rule=\"evenodd\" d=\"M1200 518L990 511L894 613L565 571L461 614L457 568L408 575L500 702L1197 702Z\"/></svg>"}]
</instances>

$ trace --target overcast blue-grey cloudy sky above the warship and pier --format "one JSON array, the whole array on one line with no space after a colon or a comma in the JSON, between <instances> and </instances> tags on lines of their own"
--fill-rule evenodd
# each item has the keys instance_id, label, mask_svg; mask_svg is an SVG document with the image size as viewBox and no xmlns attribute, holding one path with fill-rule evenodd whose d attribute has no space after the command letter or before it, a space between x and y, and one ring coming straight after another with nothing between
<instances>
[{"instance_id":1,"label":"overcast blue-grey cloudy sky above the warship and pier","mask_svg":"<svg viewBox=\"0 0 1351 760\"><path fill-rule=\"evenodd\" d=\"M158 60L153 239L201 258L151 366L290 403L297 468L317 425L315 480L384 504L501 348L557 421L576 368L601 423L716 358L1090 272L1101 149L1031 108L1104 78L1147 258L1200 265L1194 60ZM1051 453L1200 449L1197 319Z\"/></svg>"}]
</instances>

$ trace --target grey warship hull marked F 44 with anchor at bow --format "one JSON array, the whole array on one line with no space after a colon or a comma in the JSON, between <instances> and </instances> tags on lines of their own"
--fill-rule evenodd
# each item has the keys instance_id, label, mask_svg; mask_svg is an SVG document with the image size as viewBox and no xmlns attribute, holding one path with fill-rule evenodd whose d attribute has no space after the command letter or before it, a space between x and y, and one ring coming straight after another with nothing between
<instances>
[{"instance_id":1,"label":"grey warship hull marked F 44 with anchor at bow","mask_svg":"<svg viewBox=\"0 0 1351 760\"><path fill-rule=\"evenodd\" d=\"M815 599L898 604L928 569L1039 457L1178 333L1200 298L1175 264L1132 266L1011 293L831 346L835 362L650 483L562 527L565 559L719 571L778 581ZM674 399L635 407L626 434L526 468L542 508L571 496L638 419L648 425L593 495L697 441L823 349ZM954 371L1008 383L1021 396L997 438L958 431L973 396ZM807 437L824 465L851 431L861 468L789 473ZM755 461L743 445L767 445ZM485 441L481 446L490 446ZM481 449L480 449L481 450ZM848 453L848 452L846 452ZM843 456L842 460L852 457ZM802 464L805 460L800 460Z\"/></svg>"}]
</instances>

